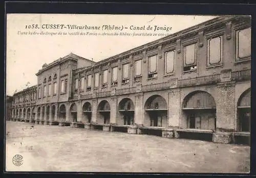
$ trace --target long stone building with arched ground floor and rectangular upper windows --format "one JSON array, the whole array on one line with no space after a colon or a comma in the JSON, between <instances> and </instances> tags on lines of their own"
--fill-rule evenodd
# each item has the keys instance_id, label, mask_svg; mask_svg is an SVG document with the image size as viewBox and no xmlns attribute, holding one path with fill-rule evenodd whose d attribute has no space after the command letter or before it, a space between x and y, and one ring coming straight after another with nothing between
<instances>
[{"instance_id":1,"label":"long stone building with arched ground floor and rectangular upper windows","mask_svg":"<svg viewBox=\"0 0 256 178\"><path fill-rule=\"evenodd\" d=\"M250 73L250 17L222 16L99 62L44 64L12 118L237 142L250 136Z\"/></svg>"}]
</instances>

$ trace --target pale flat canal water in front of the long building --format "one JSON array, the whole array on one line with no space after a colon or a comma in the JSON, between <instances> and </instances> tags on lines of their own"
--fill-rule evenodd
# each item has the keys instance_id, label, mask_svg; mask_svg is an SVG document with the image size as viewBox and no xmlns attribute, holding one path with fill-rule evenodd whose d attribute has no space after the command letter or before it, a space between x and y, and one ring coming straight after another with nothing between
<instances>
[{"instance_id":1,"label":"pale flat canal water in front of the long building","mask_svg":"<svg viewBox=\"0 0 256 178\"><path fill-rule=\"evenodd\" d=\"M21 166L12 163L17 154ZM7 171L234 173L249 167L245 145L6 123Z\"/></svg>"}]
</instances>

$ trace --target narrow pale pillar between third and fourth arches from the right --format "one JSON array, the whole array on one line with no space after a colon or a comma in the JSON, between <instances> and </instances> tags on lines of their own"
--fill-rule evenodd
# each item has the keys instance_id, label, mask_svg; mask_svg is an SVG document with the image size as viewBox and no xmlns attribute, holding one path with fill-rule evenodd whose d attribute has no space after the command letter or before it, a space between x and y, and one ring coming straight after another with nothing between
<instances>
[{"instance_id":1,"label":"narrow pale pillar between third and fourth arches from the right","mask_svg":"<svg viewBox=\"0 0 256 178\"><path fill-rule=\"evenodd\" d=\"M135 113L134 113L134 123L141 126L143 124L143 94L140 93L135 96Z\"/></svg>"}]
</instances>

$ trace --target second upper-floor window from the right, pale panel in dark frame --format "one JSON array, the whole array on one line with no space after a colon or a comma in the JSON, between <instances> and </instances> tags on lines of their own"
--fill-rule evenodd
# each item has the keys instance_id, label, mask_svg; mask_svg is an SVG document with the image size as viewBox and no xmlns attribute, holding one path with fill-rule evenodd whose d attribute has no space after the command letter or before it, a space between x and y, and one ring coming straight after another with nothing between
<instances>
[{"instance_id":1,"label":"second upper-floor window from the right, pale panel in dark frame","mask_svg":"<svg viewBox=\"0 0 256 178\"><path fill-rule=\"evenodd\" d=\"M207 66L223 63L223 35L207 39Z\"/></svg>"}]
</instances>

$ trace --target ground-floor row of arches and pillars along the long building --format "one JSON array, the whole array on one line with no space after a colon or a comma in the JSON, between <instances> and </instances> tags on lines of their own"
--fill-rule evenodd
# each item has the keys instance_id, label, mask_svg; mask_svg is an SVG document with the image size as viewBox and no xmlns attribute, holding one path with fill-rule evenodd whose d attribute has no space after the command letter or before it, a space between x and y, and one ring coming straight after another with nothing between
<instances>
[{"instance_id":1,"label":"ground-floor row of arches and pillars along the long building","mask_svg":"<svg viewBox=\"0 0 256 178\"><path fill-rule=\"evenodd\" d=\"M174 89L14 108L12 118L46 124L111 124L113 130L117 125L136 126L144 133L143 128L157 128L248 135L250 88L233 87L233 98L223 86Z\"/></svg>"}]
</instances>

